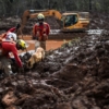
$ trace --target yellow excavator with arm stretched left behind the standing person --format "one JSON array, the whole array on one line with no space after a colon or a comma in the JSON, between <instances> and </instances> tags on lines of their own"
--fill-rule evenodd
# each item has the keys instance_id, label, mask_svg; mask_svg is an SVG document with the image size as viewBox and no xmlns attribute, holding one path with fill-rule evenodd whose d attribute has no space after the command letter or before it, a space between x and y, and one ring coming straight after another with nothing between
<instances>
[{"instance_id":1,"label":"yellow excavator with arm stretched left behind the standing person","mask_svg":"<svg viewBox=\"0 0 109 109\"><path fill-rule=\"evenodd\" d=\"M22 15L21 28L23 31L27 21L36 19L38 13L43 13L46 16L55 16L58 21L61 21L60 32L84 32L89 25L89 12L70 11L60 13L57 10L26 10Z\"/></svg>"}]
</instances>

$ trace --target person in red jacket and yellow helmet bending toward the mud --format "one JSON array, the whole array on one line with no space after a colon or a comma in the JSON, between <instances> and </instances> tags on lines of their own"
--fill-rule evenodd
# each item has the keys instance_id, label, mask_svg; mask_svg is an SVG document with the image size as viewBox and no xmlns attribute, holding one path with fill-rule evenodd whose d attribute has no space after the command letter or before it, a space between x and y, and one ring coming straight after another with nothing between
<instances>
[{"instance_id":1,"label":"person in red jacket and yellow helmet bending toward the mud","mask_svg":"<svg viewBox=\"0 0 109 109\"><path fill-rule=\"evenodd\" d=\"M13 53L14 59L17 65L20 66L21 73L24 71L22 61L17 55L17 50L24 50L25 48L26 48L26 43L22 39L16 40L16 43L15 41L13 43L11 40L3 40L0 44L0 63L1 63L0 66L7 75L13 73L11 69L10 52Z\"/></svg>"}]
</instances>

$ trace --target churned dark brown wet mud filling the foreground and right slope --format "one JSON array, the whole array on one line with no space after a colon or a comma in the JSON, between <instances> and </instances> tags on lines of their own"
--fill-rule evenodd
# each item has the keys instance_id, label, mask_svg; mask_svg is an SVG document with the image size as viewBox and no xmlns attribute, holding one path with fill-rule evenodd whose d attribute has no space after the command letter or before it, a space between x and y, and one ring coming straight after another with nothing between
<instances>
[{"instance_id":1,"label":"churned dark brown wet mud filling the foreground and right slope","mask_svg":"<svg viewBox=\"0 0 109 109\"><path fill-rule=\"evenodd\" d=\"M33 69L24 65L24 73L12 64L14 74L0 80L0 109L109 109L109 32L100 16L90 28L107 28L101 35L47 51ZM27 58L21 57L24 63Z\"/></svg>"}]
</instances>

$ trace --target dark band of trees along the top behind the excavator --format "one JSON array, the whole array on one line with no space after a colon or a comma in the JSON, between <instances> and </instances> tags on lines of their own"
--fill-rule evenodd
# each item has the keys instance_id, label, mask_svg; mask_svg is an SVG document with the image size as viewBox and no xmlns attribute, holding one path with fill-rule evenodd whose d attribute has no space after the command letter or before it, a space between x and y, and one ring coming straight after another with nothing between
<instances>
[{"instance_id":1,"label":"dark band of trees along the top behind the excavator","mask_svg":"<svg viewBox=\"0 0 109 109\"><path fill-rule=\"evenodd\" d=\"M108 4L109 0L0 0L0 16L21 16L24 10L34 9L108 12Z\"/></svg>"}]
</instances>

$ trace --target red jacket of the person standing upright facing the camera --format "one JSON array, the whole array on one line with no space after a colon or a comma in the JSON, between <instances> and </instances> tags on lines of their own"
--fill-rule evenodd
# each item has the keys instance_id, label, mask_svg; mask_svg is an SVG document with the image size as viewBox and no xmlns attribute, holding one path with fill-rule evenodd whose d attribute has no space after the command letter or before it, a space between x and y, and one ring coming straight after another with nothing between
<instances>
[{"instance_id":1,"label":"red jacket of the person standing upright facing the camera","mask_svg":"<svg viewBox=\"0 0 109 109\"><path fill-rule=\"evenodd\" d=\"M37 32L39 32L39 36L37 36ZM33 27L33 34L34 34L34 36L41 38L41 40L45 40L44 39L44 34L46 34L48 36L49 33L50 33L50 26L46 22L44 22L43 25L39 25L39 23L36 23L34 25L34 27Z\"/></svg>"}]
</instances>

